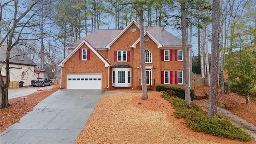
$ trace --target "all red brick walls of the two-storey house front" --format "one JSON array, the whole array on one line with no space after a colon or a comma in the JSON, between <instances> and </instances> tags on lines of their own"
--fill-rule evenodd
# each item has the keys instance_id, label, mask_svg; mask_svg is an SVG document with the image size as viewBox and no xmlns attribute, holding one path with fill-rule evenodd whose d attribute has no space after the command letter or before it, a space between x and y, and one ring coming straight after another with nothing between
<instances>
[{"instance_id":1,"label":"all red brick walls of the two-storey house front","mask_svg":"<svg viewBox=\"0 0 256 144\"><path fill-rule=\"evenodd\" d=\"M131 28L135 27L136 31L132 32ZM139 89L139 79L141 79L141 63L140 63L140 42L136 44L136 48L130 46L138 40L140 37L140 29L132 24L111 46L110 50L98 50L98 52L108 59L110 64L129 64L132 66L132 86L128 88ZM175 50L172 50L172 61L161 61L161 49L157 48L157 44L150 38L145 42L145 50L149 50L152 53L152 63L146 63L146 66L153 66L152 79L155 80L155 86L161 84L161 71L172 71L172 85L184 86L175 84L174 71L183 70L183 62L175 61ZM88 48L85 44L81 48ZM116 50L129 50L130 62L114 62L114 51ZM188 54L188 50L187 50ZM139 66L139 69L137 68ZM154 69L156 67L156 69ZM108 68L105 68L104 63L96 56L92 50L90 51L89 61L78 61L78 50L71 56L64 64L62 68L62 88L66 88L66 75L71 73L86 74L86 73L101 73L102 74L102 88L108 86ZM112 69L109 69L109 89L116 89L118 87L112 87Z\"/></svg>"}]
</instances>

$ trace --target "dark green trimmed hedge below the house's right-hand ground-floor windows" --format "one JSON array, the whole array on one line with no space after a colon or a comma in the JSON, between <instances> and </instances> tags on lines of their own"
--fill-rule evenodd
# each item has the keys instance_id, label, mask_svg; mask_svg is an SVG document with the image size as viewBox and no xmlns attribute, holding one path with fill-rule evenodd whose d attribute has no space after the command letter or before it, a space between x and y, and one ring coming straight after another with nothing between
<instances>
[{"instance_id":1,"label":"dark green trimmed hedge below the house's right-hand ground-floor windows","mask_svg":"<svg viewBox=\"0 0 256 144\"><path fill-rule=\"evenodd\" d=\"M167 92L167 90L174 91L176 96L185 100L185 89L182 87L165 85L165 84L158 84L156 87L156 91L159 91L159 92L162 92L162 91ZM191 101L193 101L195 97L195 91L194 89L191 89L191 88L190 88L190 97L191 97Z\"/></svg>"}]
</instances>

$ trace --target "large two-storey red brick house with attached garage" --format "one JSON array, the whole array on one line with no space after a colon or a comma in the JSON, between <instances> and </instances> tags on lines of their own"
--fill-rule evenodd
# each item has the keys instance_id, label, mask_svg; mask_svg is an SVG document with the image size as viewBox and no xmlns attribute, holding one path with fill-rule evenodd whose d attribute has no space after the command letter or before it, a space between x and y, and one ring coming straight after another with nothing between
<instances>
[{"instance_id":1,"label":"large two-storey red brick house with attached garage","mask_svg":"<svg viewBox=\"0 0 256 144\"><path fill-rule=\"evenodd\" d=\"M182 40L147 26L144 42L147 85L184 86ZM123 30L97 30L67 48L61 88L141 89L140 29L134 20Z\"/></svg>"}]
</instances>

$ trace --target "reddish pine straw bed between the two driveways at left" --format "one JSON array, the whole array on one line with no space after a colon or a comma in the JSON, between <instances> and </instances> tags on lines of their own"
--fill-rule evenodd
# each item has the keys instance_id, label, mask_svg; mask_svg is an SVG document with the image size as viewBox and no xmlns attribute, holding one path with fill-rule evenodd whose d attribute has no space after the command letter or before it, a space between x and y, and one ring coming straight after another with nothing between
<instances>
[{"instance_id":1,"label":"reddish pine straw bed between the two driveways at left","mask_svg":"<svg viewBox=\"0 0 256 144\"><path fill-rule=\"evenodd\" d=\"M57 84L48 90L34 92L26 96L25 103L23 103L24 98L22 97L10 99L9 103L11 106L0 110L0 132L3 132L9 126L19 122L22 116L32 111L36 104L56 92L59 87L60 85Z\"/></svg>"}]
</instances>

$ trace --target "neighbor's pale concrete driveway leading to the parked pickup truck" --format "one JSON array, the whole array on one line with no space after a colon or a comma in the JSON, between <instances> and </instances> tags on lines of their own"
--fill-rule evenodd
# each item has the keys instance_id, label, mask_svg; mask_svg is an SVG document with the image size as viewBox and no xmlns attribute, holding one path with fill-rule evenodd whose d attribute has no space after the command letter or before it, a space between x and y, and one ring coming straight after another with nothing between
<instances>
[{"instance_id":1,"label":"neighbor's pale concrete driveway leading to the parked pickup truck","mask_svg":"<svg viewBox=\"0 0 256 144\"><path fill-rule=\"evenodd\" d=\"M54 85L52 86L44 86L44 87L39 87L39 88L43 88L45 90L52 88ZM22 97L22 96L27 96L29 94L33 94L34 92L37 92L38 87L21 87L21 88L9 88L8 90L8 99L12 99L12 98L18 98L18 97Z\"/></svg>"}]
</instances>

